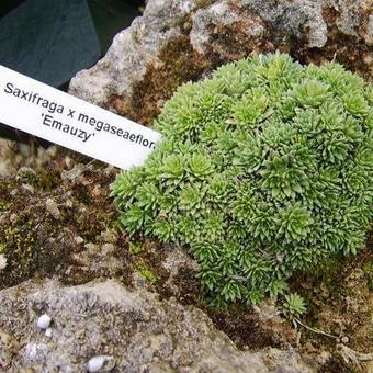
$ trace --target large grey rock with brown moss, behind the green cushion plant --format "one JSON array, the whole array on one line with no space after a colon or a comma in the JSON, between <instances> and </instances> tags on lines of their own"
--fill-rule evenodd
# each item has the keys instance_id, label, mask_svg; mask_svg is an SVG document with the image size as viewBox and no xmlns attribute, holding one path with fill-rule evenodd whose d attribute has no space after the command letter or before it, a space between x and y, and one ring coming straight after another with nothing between
<instances>
[{"instance_id":1,"label":"large grey rock with brown moss, behind the green cushion plant","mask_svg":"<svg viewBox=\"0 0 373 373\"><path fill-rule=\"evenodd\" d=\"M79 72L69 90L151 123L178 84L252 53L280 49L315 64L336 59L371 78L372 8L370 0L149 0L144 16L116 35L106 56ZM144 114L151 105L156 110Z\"/></svg>"}]
</instances>

